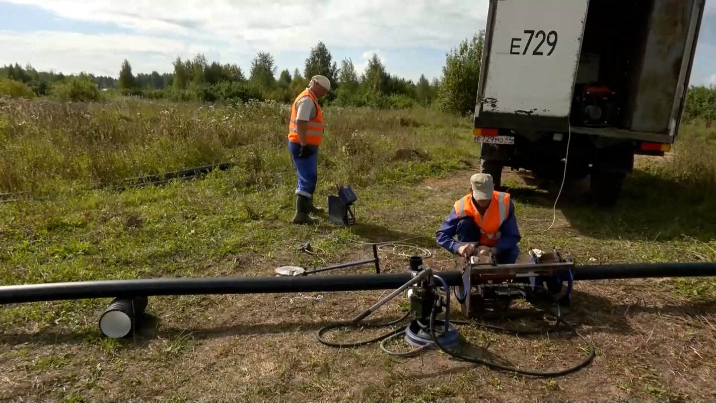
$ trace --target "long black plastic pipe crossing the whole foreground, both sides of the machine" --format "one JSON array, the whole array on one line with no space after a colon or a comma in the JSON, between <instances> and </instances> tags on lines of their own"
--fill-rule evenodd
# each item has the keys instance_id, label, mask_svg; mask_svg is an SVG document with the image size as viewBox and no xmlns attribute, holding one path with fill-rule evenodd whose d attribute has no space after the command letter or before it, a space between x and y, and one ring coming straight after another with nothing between
<instances>
[{"instance_id":1,"label":"long black plastic pipe crossing the whole foreground, both sides of the machine","mask_svg":"<svg viewBox=\"0 0 716 403\"><path fill-rule=\"evenodd\" d=\"M458 286L463 281L463 274L460 271L435 273L442 277L448 286ZM134 296L387 290L402 286L410 281L411 276L410 272L405 272L342 276L150 278L25 284L0 286L0 304ZM576 281L709 276L716 276L716 263L631 263L574 268Z\"/></svg>"}]
</instances>

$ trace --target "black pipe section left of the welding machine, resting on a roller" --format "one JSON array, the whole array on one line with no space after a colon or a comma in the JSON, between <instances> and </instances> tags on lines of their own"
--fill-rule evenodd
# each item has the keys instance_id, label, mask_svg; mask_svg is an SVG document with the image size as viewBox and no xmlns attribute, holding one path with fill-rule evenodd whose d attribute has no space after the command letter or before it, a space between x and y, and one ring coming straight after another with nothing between
<instances>
[{"instance_id":1,"label":"black pipe section left of the welding machine, resting on a roller","mask_svg":"<svg viewBox=\"0 0 716 403\"><path fill-rule=\"evenodd\" d=\"M449 286L462 283L459 271L440 272ZM211 295L246 293L310 293L392 290L410 281L411 273L343 276L146 278L73 281L0 287L0 304L83 298Z\"/></svg>"}]
</instances>

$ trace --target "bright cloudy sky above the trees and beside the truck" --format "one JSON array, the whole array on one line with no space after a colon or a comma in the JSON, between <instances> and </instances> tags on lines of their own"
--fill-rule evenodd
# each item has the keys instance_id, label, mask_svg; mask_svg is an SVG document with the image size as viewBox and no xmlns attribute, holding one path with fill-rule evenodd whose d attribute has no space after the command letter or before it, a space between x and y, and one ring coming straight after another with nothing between
<instances>
[{"instance_id":1,"label":"bright cloudy sky above the trees and beside the truck","mask_svg":"<svg viewBox=\"0 0 716 403\"><path fill-rule=\"evenodd\" d=\"M488 0L0 0L0 64L116 77L172 72L203 53L248 74L263 50L303 72L311 47L360 74L373 53L388 72L440 77L445 54L485 28ZM690 84L716 84L716 0L707 0Z\"/></svg>"}]
</instances>

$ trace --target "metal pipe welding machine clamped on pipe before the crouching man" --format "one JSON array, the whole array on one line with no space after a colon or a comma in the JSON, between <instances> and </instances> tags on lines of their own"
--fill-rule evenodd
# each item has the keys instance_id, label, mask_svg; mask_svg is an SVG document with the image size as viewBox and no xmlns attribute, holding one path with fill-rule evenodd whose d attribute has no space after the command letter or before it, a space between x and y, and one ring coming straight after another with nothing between
<instances>
[{"instance_id":1,"label":"metal pipe welding machine clamped on pipe before the crouching man","mask_svg":"<svg viewBox=\"0 0 716 403\"><path fill-rule=\"evenodd\" d=\"M507 309L511 301L520 298L534 298L548 291L548 301L543 304L569 306L573 286L574 259L565 260L555 249L552 253L530 250L516 263L500 264L495 257L458 257L463 265L463 284L458 301L463 315L468 318L480 316L490 308ZM522 287L516 287L516 285ZM527 286L533 293L526 295Z\"/></svg>"}]
</instances>

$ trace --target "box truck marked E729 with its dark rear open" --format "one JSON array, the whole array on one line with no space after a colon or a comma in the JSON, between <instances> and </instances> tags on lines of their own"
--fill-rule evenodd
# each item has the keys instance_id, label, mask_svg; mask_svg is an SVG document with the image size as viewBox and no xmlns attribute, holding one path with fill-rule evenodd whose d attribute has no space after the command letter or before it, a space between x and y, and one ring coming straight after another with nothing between
<instances>
[{"instance_id":1,"label":"box truck marked E729 with its dark rear open","mask_svg":"<svg viewBox=\"0 0 716 403\"><path fill-rule=\"evenodd\" d=\"M617 203L635 155L679 132L705 0L490 0L473 138L480 172L589 177Z\"/></svg>"}]
</instances>

